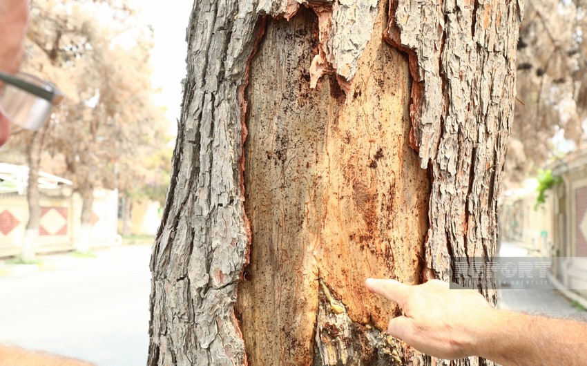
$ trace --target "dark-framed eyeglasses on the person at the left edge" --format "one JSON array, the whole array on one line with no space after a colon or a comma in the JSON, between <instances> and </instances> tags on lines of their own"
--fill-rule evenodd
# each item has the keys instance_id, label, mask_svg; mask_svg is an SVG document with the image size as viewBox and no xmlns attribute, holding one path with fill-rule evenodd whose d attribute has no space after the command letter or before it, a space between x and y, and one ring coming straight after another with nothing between
<instances>
[{"instance_id":1,"label":"dark-framed eyeglasses on the person at the left edge","mask_svg":"<svg viewBox=\"0 0 587 366\"><path fill-rule=\"evenodd\" d=\"M37 130L61 104L64 94L53 84L30 74L0 72L0 112L28 130ZM1 84L1 83L0 83Z\"/></svg>"}]
</instances>

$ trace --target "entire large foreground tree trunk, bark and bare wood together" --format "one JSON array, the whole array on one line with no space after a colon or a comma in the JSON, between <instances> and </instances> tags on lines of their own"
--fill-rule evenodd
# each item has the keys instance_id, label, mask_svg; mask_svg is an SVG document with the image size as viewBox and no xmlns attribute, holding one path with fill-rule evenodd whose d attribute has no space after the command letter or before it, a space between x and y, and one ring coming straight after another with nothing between
<instances>
[{"instance_id":1,"label":"entire large foreground tree trunk, bark and bare wood together","mask_svg":"<svg viewBox=\"0 0 587 366\"><path fill-rule=\"evenodd\" d=\"M493 256L522 8L196 2L148 365L437 362L363 282Z\"/></svg>"}]
</instances>

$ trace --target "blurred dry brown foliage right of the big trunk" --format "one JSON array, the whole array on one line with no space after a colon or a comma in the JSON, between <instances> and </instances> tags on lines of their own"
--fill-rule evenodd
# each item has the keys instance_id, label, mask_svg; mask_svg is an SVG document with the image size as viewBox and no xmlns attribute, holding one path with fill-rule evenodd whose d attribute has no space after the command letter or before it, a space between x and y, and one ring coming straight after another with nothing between
<instances>
[{"instance_id":1,"label":"blurred dry brown foliage right of the big trunk","mask_svg":"<svg viewBox=\"0 0 587 366\"><path fill-rule=\"evenodd\" d=\"M508 148L508 180L522 180L557 144L582 148L587 125L587 2L528 3L518 42L516 122ZM556 138L555 138L556 137Z\"/></svg>"}]
</instances>

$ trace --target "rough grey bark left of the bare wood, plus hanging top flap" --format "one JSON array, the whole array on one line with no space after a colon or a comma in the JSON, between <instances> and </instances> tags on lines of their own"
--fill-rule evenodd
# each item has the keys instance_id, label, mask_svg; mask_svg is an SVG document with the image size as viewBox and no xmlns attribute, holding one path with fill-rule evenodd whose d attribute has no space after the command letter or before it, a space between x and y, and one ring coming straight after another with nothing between
<instances>
[{"instance_id":1,"label":"rough grey bark left of the bare wood, plus hanging top flap","mask_svg":"<svg viewBox=\"0 0 587 366\"><path fill-rule=\"evenodd\" d=\"M151 262L150 365L183 365L196 360L200 365L247 363L233 311L249 244L242 205L246 128L242 128L241 117L247 105L242 91L247 84L248 61L261 36L260 14L291 17L298 8L295 1L209 0L194 4L187 39L188 75L173 157L174 179ZM360 15L355 7L338 11L337 19ZM360 52L354 48L365 46L364 39L371 37L371 31L372 26L358 20L358 26L338 32L340 37L330 49L351 52L356 62ZM349 39L353 39L351 48L337 46ZM335 53L335 57L341 55ZM349 78L353 67L349 64Z\"/></svg>"}]
</instances>

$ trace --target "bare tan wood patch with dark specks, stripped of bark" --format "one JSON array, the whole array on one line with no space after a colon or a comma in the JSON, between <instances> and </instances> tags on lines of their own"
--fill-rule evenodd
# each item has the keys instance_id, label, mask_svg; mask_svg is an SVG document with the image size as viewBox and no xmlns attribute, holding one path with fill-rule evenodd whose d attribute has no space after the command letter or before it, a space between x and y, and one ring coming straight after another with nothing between
<instances>
[{"instance_id":1,"label":"bare tan wood patch with dark specks, stripped of bark","mask_svg":"<svg viewBox=\"0 0 587 366\"><path fill-rule=\"evenodd\" d=\"M251 63L244 177L253 241L238 312L253 365L311 363L318 277L362 329L355 334L385 329L396 310L366 291L365 278L421 280L430 183L409 146L407 59L376 37L348 98L335 77L313 90L317 28L311 10L270 20Z\"/></svg>"}]
</instances>

